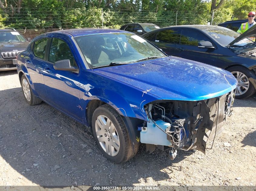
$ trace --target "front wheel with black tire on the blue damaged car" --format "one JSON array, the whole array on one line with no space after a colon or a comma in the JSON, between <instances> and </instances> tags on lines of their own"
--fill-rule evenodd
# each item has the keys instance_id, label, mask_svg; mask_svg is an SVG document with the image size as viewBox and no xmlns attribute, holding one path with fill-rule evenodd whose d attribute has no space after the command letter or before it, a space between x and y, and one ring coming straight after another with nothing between
<instances>
[{"instance_id":1,"label":"front wheel with black tire on the blue damaged car","mask_svg":"<svg viewBox=\"0 0 256 191\"><path fill-rule=\"evenodd\" d=\"M109 105L102 105L94 111L92 132L103 155L114 163L128 161L138 151L136 147L133 152L123 119Z\"/></svg>"}]
</instances>

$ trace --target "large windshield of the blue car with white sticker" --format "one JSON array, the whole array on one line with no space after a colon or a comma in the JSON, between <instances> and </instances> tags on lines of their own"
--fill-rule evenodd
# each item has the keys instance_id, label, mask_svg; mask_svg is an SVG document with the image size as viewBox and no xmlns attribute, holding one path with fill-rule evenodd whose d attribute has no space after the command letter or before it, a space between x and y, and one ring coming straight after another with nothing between
<instances>
[{"instance_id":1,"label":"large windshield of the blue car with white sticker","mask_svg":"<svg viewBox=\"0 0 256 191\"><path fill-rule=\"evenodd\" d=\"M132 33L105 33L74 38L90 68L127 64L148 57L166 57L145 39Z\"/></svg>"}]
</instances>

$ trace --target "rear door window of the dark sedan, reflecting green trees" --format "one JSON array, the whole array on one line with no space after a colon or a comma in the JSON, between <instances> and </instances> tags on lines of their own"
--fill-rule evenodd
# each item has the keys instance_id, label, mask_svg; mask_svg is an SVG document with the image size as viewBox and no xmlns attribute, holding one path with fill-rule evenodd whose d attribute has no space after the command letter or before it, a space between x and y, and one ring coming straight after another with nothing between
<instances>
[{"instance_id":1,"label":"rear door window of the dark sedan, reflecting green trees","mask_svg":"<svg viewBox=\"0 0 256 191\"><path fill-rule=\"evenodd\" d=\"M156 35L155 42L177 44L180 40L178 32L178 29L162 30Z\"/></svg>"}]
</instances>

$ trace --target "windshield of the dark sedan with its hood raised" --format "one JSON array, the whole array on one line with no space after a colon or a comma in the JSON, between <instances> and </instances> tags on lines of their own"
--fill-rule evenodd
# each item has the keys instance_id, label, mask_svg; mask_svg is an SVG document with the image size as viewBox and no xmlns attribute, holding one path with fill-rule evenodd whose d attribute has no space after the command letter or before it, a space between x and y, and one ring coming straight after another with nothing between
<instances>
[{"instance_id":1,"label":"windshield of the dark sedan with its hood raised","mask_svg":"<svg viewBox=\"0 0 256 191\"><path fill-rule=\"evenodd\" d=\"M221 28L221 29L216 29L216 30L208 30L204 29L203 30L207 35L211 36L214 38L218 43L221 45L227 46L229 43L231 43L233 40L235 40L238 36L240 36L239 33L230 30L228 28ZM235 46L245 46L247 44L252 43L251 40L245 38L242 39L236 43L234 43Z\"/></svg>"}]
</instances>

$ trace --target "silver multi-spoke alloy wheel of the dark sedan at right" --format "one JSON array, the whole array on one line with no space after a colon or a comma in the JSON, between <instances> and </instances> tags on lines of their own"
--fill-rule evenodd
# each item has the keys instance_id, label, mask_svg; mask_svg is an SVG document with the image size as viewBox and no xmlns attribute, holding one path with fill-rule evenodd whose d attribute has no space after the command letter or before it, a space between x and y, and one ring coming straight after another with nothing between
<instances>
[{"instance_id":1,"label":"silver multi-spoke alloy wheel of the dark sedan at right","mask_svg":"<svg viewBox=\"0 0 256 191\"><path fill-rule=\"evenodd\" d=\"M248 88L249 88L249 80L246 77L246 75L244 75L242 72L231 72L231 74L234 75L234 77L237 79L238 81L238 85L235 89L235 95L242 95L244 94Z\"/></svg>"}]
</instances>

